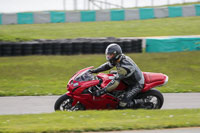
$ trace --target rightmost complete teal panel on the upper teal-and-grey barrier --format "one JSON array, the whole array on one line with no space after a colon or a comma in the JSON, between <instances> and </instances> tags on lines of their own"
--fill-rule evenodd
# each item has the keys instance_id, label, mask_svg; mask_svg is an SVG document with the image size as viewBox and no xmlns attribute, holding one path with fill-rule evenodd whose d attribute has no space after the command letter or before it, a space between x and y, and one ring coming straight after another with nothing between
<instances>
[{"instance_id":1,"label":"rightmost complete teal panel on the upper teal-and-grey barrier","mask_svg":"<svg viewBox=\"0 0 200 133\"><path fill-rule=\"evenodd\" d=\"M169 11L169 17L182 17L182 7L181 6L174 6L174 7L168 7Z\"/></svg>"}]
</instances>

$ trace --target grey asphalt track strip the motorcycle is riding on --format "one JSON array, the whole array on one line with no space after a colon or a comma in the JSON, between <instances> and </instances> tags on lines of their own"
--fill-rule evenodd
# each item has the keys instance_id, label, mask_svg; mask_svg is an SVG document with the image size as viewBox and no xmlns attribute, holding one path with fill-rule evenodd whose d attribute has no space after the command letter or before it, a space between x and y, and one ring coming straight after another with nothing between
<instances>
[{"instance_id":1,"label":"grey asphalt track strip the motorcycle is riding on","mask_svg":"<svg viewBox=\"0 0 200 133\"><path fill-rule=\"evenodd\" d=\"M200 108L200 93L164 93L162 109ZM59 96L0 97L0 115L54 112Z\"/></svg>"}]
</instances>

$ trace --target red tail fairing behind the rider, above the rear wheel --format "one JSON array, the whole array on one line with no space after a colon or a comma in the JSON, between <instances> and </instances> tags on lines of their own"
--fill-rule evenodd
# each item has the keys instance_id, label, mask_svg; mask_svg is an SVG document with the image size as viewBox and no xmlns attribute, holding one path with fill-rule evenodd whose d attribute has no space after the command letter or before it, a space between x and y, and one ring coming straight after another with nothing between
<instances>
[{"instance_id":1,"label":"red tail fairing behind the rider, above the rear wheel","mask_svg":"<svg viewBox=\"0 0 200 133\"><path fill-rule=\"evenodd\" d=\"M167 82L168 80L168 77L162 73L143 72L143 75L145 79L145 84L142 92L148 91L155 86L164 85L165 82Z\"/></svg>"}]
</instances>

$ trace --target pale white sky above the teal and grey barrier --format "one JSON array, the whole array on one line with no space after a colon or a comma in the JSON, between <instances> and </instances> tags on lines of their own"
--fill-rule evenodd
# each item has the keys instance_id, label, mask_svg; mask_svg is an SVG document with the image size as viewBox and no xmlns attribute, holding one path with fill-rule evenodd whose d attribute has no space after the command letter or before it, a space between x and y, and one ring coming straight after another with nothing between
<instances>
[{"instance_id":1,"label":"pale white sky above the teal and grey barrier","mask_svg":"<svg viewBox=\"0 0 200 133\"><path fill-rule=\"evenodd\" d=\"M65 6L64 6L65 1ZM28 12L28 11L49 11L49 10L74 10L74 1L77 1L78 10L88 9L88 0L0 0L0 13L15 13L15 12ZM151 6L152 1L155 6L165 5L168 2L170 4L182 3L182 2L197 2L200 0L96 0L109 2L120 5L123 1L125 8L135 7L136 3L138 7ZM96 2L97 3L97 2ZM98 4L98 3L97 3ZM98 4L99 6L101 4ZM101 5L105 8L116 8L114 6ZM97 7L90 6L91 10L97 10Z\"/></svg>"}]
</instances>

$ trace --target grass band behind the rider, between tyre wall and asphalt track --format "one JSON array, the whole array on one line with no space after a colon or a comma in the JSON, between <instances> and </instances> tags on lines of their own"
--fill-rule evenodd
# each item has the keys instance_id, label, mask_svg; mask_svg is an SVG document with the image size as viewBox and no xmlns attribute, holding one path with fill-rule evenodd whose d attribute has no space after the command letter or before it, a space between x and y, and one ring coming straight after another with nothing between
<instances>
[{"instance_id":1,"label":"grass band behind the rider, between tyre wall and asphalt track","mask_svg":"<svg viewBox=\"0 0 200 133\"><path fill-rule=\"evenodd\" d=\"M146 72L169 76L161 92L200 92L200 51L128 54ZM99 66L105 55L25 56L0 58L0 96L60 95L70 77L88 66Z\"/></svg>"}]
</instances>

